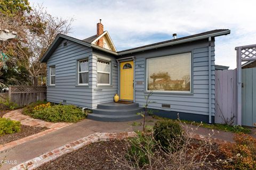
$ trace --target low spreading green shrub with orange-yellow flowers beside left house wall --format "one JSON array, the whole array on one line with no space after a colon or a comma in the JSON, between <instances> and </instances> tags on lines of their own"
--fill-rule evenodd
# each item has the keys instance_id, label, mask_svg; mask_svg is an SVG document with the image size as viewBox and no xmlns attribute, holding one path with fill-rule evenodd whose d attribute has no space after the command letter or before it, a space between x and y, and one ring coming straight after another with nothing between
<instances>
[{"instance_id":1,"label":"low spreading green shrub with orange-yellow flowers beside left house wall","mask_svg":"<svg viewBox=\"0 0 256 170\"><path fill-rule=\"evenodd\" d=\"M74 105L54 105L43 110L33 111L30 115L48 122L78 122L87 116L87 112Z\"/></svg>"}]
</instances>

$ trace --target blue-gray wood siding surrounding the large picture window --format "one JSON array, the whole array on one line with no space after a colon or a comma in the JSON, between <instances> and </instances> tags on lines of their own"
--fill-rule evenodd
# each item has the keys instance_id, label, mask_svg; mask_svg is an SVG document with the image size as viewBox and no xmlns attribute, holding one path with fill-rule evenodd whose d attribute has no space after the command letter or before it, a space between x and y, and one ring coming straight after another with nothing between
<instances>
[{"instance_id":1,"label":"blue-gray wood siding surrounding the large picture window","mask_svg":"<svg viewBox=\"0 0 256 170\"><path fill-rule=\"evenodd\" d=\"M196 41L183 45L176 45L161 49L154 49L147 52L131 54L135 57L135 102L143 106L145 103L146 90L146 58L166 56L172 54L191 52L192 61L192 94L170 94L154 92L150 97L152 103L149 108L209 115L209 69L208 69L208 46L207 40ZM212 79L212 115L215 113L215 87L214 87L214 41L211 47L211 79ZM129 55L123 56L127 57ZM136 84L142 81L143 84ZM163 108L162 104L170 104L171 108Z\"/></svg>"}]
</instances>

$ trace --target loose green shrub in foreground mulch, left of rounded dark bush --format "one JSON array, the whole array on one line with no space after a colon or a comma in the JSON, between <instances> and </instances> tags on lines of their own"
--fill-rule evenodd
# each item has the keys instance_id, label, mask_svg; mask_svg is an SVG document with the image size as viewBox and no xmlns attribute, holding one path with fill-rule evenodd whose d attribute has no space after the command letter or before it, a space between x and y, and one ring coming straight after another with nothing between
<instances>
[{"instance_id":1,"label":"loose green shrub in foreground mulch, left of rounded dark bush","mask_svg":"<svg viewBox=\"0 0 256 170\"><path fill-rule=\"evenodd\" d=\"M129 140L130 148L126 154L126 159L129 160L133 166L143 167L149 164L149 156L153 155L153 149L156 145L155 141L151 139L150 135L143 132L138 132L138 137Z\"/></svg>"}]
</instances>

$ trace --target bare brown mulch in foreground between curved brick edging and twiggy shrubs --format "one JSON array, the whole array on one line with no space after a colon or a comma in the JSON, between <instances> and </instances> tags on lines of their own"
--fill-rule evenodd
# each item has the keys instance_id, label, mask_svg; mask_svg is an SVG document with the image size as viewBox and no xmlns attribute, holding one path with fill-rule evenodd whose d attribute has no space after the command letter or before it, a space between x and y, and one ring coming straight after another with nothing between
<instances>
[{"instance_id":1,"label":"bare brown mulch in foreground between curved brick edging and twiggy shrubs","mask_svg":"<svg viewBox=\"0 0 256 170\"><path fill-rule=\"evenodd\" d=\"M36 169L129 169L115 164L106 152L106 150L111 150L115 154L124 147L124 142L118 140L96 142L63 155Z\"/></svg>"}]
</instances>

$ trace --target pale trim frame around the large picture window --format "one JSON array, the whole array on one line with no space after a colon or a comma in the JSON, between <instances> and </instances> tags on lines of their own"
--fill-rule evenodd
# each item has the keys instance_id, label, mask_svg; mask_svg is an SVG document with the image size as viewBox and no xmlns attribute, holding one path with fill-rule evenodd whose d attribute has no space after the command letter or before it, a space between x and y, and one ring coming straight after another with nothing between
<instances>
[{"instance_id":1,"label":"pale trim frame around the large picture window","mask_svg":"<svg viewBox=\"0 0 256 170\"><path fill-rule=\"evenodd\" d=\"M180 53L180 54L187 54L187 53ZM162 58L162 57L171 57L173 55L179 55L179 54L172 54L172 55L166 55L166 56L161 56L161 57L151 57L151 58ZM150 92L151 90L148 90L148 60L150 60L151 58L146 58L146 63L147 63L147 67L146 67L146 92ZM153 90L153 92L161 92L161 93L173 93L173 94L191 94L192 92L192 81L191 81L191 74L192 74L192 70L191 70L191 53L189 52L189 58L190 58L190 64L189 64L189 70L190 70L190 91L180 91L180 90Z\"/></svg>"}]
</instances>

